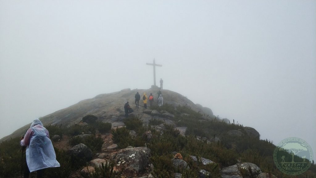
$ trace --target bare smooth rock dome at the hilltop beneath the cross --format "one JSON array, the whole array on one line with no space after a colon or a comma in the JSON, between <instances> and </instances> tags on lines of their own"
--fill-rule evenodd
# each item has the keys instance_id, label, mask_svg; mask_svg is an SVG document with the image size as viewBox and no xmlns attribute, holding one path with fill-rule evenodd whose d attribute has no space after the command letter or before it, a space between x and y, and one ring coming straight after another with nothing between
<instances>
[{"instance_id":1,"label":"bare smooth rock dome at the hilltop beneath the cross","mask_svg":"<svg viewBox=\"0 0 316 178\"><path fill-rule=\"evenodd\" d=\"M77 104L48 114L40 118L40 120L44 125L62 124L65 126L70 126L73 124L78 124L86 115L94 115L100 121L111 123L112 127L122 126L124 125L124 123L121 122L121 120L124 118L124 104L129 101L131 108L134 109L134 112L132 114L141 117L146 124L152 116L151 113L148 113L148 110L146 112L146 109L144 108L142 100L143 93L145 92L148 98L150 93L152 93L154 96L154 103L156 104L158 99L158 91L159 89L131 90L130 88L127 88L119 92L100 94L92 99L82 100ZM135 107L136 92L139 92L141 96L141 99L139 101L139 109ZM191 100L187 99L177 92L173 92L170 90L161 90L161 93L163 95L163 102L165 104L167 103L171 105L186 105L197 112L203 113L209 118L215 118L210 108L203 107L199 104L194 104ZM147 106L149 108L149 102ZM152 112L151 110L149 111ZM172 114L166 113L165 115L167 118L172 117ZM11 137L20 137L25 133L25 130L27 130L29 126L30 124L27 124L24 127L13 132L11 135L3 137L0 142Z\"/></svg>"}]
</instances>

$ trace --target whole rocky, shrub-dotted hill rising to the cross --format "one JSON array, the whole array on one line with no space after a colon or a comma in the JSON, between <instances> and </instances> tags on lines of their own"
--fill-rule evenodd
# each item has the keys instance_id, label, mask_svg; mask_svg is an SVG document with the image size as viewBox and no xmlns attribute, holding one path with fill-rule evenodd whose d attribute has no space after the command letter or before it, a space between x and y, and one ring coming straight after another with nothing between
<instances>
[{"instance_id":1,"label":"whole rocky, shrub-dotted hill rising to the cross","mask_svg":"<svg viewBox=\"0 0 316 178\"><path fill-rule=\"evenodd\" d=\"M276 146L260 140L257 130L215 117L210 108L169 90L161 90L164 100L158 106L158 91L100 94L40 118L61 165L48 168L46 177L284 177L272 166ZM143 93L153 94L153 106L148 102L144 108ZM125 116L127 101L134 111ZM0 151L0 177L18 177L10 163L21 160L19 137L29 126L1 139L0 149L6 151Z\"/></svg>"}]
</instances>

